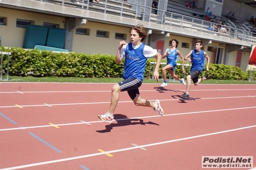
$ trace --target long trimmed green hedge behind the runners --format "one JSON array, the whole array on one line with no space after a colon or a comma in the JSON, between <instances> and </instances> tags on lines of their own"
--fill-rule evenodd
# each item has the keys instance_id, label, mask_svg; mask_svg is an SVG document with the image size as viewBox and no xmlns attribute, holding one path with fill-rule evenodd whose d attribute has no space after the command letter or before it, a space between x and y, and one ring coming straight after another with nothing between
<instances>
[{"instance_id":1,"label":"long trimmed green hedge behind the runners","mask_svg":"<svg viewBox=\"0 0 256 170\"><path fill-rule=\"evenodd\" d=\"M10 56L9 75L37 77L68 76L68 77L122 77L124 62L115 64L115 56L108 54L82 54L82 53L58 53L46 50L26 50L22 48L1 47L1 51L12 52ZM156 61L150 58L147 61L144 77L149 76L149 63ZM166 62L163 59L161 62ZM178 61L180 63L180 61ZM162 77L160 66L159 74ZM3 55L3 70L7 70L7 56ZM152 76L152 65L150 66ZM187 75L190 67L186 67ZM182 77L182 67L176 66L176 74ZM206 73L203 70L202 75ZM210 64L209 72L212 79L248 80L248 72L241 68L228 65ZM253 72L253 79L255 79Z\"/></svg>"}]
</instances>

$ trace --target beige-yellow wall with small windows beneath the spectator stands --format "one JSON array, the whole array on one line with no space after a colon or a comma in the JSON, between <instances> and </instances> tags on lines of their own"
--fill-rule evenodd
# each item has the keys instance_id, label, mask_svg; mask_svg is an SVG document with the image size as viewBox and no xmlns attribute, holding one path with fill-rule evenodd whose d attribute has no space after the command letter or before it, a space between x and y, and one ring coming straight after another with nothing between
<instances>
[{"instance_id":1,"label":"beige-yellow wall with small windows beneath the spectator stands","mask_svg":"<svg viewBox=\"0 0 256 170\"><path fill-rule=\"evenodd\" d=\"M53 15L47 15L42 13L32 13L24 12L21 10L11 10L7 8L0 8L0 16L7 18L7 26L0 25L0 37L1 45L6 47L22 47L24 40L24 34L26 29L21 27L16 27L16 20L33 20L35 25L42 26L44 22L49 22L53 24L59 24L60 28L64 28L65 18L56 17ZM82 28L90 30L90 35L78 35L76 31L73 32L73 43L72 51L81 52L85 54L112 54L115 55L117 46L121 40L115 39L115 33L123 33L126 35L126 42L130 42L130 26L117 26L112 24L103 24L99 22L89 21L87 24L83 24ZM108 31L109 37L97 37L96 31ZM165 41L164 50L169 48L169 41L172 39L177 39L179 42L178 50L185 57L191 49L194 49L193 38L187 36L178 36L171 34L167 38L162 38ZM148 38L145 40L148 42ZM182 42L189 43L189 49L182 48ZM146 43L147 44L147 43ZM148 42L151 47L155 48L156 42ZM207 51L207 47L214 47L214 49L219 47L218 42L212 41L212 43L207 44L206 40L203 40L203 50L207 52L210 57L210 63L215 61L215 52ZM223 47L225 50L225 47ZM224 55L224 52L223 52ZM248 65L250 52L243 52L243 58L241 62L241 68L246 70ZM235 66L237 51L230 52L228 65ZM180 58L178 58L180 60ZM223 56L224 59L224 56ZM222 62L223 63L223 62Z\"/></svg>"}]
</instances>

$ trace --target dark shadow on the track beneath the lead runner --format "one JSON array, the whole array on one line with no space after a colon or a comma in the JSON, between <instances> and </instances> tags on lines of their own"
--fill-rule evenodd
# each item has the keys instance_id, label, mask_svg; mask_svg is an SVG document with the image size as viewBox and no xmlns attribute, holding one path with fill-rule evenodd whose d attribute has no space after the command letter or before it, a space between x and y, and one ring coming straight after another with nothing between
<instances>
[{"instance_id":1,"label":"dark shadow on the track beneath the lead runner","mask_svg":"<svg viewBox=\"0 0 256 170\"><path fill-rule=\"evenodd\" d=\"M114 114L114 119L115 119L115 121L117 121L117 123L111 123L110 125L106 125L105 126L106 129L96 130L96 132L106 133L106 132L110 132L112 130L112 128L114 128L114 127L123 127L123 126L128 126L128 125L146 125L146 124L158 125L157 123L153 123L151 121L144 122L141 119L129 119L129 118L127 118L127 116L125 116L123 114Z\"/></svg>"}]
</instances>

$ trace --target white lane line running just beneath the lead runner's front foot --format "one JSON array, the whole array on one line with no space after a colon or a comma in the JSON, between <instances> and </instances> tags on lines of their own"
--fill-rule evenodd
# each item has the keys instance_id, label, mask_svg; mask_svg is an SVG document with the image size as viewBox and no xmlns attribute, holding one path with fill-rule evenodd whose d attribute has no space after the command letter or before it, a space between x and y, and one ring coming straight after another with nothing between
<instances>
[{"instance_id":1,"label":"white lane line running just beneath the lead runner's front foot","mask_svg":"<svg viewBox=\"0 0 256 170\"><path fill-rule=\"evenodd\" d=\"M192 111L192 112L181 112L181 113L175 113L175 114L164 114L163 116L178 116L178 115L183 115L183 114L198 114L198 113L205 113L205 112L221 112L221 111L235 111L235 110L242 110L242 109L255 109L256 106L252 107L237 107L237 108L231 108L231 109L218 109L218 110L209 110L209 111ZM155 116L141 116L141 117L135 117L135 118L124 118L124 119L118 119L119 120L132 120L132 119L142 119L142 118L156 118L160 117L160 115L155 115ZM117 121L117 120L115 120ZM67 125L80 125L80 124L91 124L91 123L105 123L104 121L81 121L78 123L64 123L64 124L56 124L55 126L67 126ZM34 126L34 127L19 127L19 128L3 128L0 129L0 131L7 131L7 130L22 130L24 128L43 128L43 127L53 127L53 125L41 125L41 126Z\"/></svg>"}]
</instances>

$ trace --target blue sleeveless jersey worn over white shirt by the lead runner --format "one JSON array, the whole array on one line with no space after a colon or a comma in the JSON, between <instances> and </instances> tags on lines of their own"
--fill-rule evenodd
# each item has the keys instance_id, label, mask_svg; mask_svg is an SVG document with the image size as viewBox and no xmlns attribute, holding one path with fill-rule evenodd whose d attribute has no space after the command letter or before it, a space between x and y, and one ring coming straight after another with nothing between
<instances>
[{"instance_id":1,"label":"blue sleeveless jersey worn over white shirt by the lead runner","mask_svg":"<svg viewBox=\"0 0 256 170\"><path fill-rule=\"evenodd\" d=\"M143 54L144 46L145 44L141 43L138 49L133 49L132 43L126 45L123 79L136 77L141 82L143 81L146 61L148 59Z\"/></svg>"}]
</instances>

